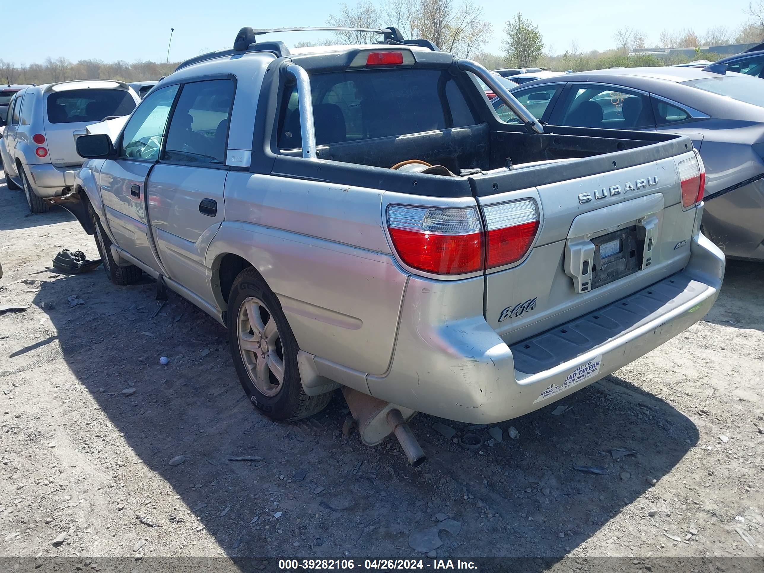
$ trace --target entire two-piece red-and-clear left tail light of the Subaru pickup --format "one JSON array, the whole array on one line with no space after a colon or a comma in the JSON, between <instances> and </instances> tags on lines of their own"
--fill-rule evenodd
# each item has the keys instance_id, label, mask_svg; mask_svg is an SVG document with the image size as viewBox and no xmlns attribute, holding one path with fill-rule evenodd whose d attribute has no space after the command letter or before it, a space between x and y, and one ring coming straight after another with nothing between
<instances>
[{"instance_id":1,"label":"entire two-piece red-and-clear left tail light of the Subaru pickup","mask_svg":"<svg viewBox=\"0 0 764 573\"><path fill-rule=\"evenodd\" d=\"M484 208L391 205L387 228L400 260L433 274L466 274L520 261L539 230L539 208L523 199Z\"/></svg>"}]
</instances>

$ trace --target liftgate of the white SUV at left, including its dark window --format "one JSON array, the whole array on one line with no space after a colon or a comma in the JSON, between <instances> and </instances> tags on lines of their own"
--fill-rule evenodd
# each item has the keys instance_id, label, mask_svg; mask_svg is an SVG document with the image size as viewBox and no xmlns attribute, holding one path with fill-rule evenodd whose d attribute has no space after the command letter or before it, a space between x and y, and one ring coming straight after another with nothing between
<instances>
[{"instance_id":1,"label":"liftgate of the white SUV at left, including its dark window","mask_svg":"<svg viewBox=\"0 0 764 573\"><path fill-rule=\"evenodd\" d=\"M68 167L83 163L74 144L76 136L104 118L129 115L135 100L128 89L71 89L71 84L61 84L45 94L43 108L50 161L57 167Z\"/></svg>"}]
</instances>

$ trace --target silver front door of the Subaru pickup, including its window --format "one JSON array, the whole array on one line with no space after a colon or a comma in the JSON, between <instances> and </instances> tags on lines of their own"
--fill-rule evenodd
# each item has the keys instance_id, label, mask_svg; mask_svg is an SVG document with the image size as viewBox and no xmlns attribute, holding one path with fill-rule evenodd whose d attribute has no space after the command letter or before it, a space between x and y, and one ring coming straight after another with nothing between
<instances>
[{"instance_id":1,"label":"silver front door of the Subaru pickup, including its window","mask_svg":"<svg viewBox=\"0 0 764 573\"><path fill-rule=\"evenodd\" d=\"M118 138L118 159L101 168L106 221L116 243L155 270L162 267L148 235L145 184L159 159L177 92L178 86L167 86L147 96Z\"/></svg>"}]
</instances>

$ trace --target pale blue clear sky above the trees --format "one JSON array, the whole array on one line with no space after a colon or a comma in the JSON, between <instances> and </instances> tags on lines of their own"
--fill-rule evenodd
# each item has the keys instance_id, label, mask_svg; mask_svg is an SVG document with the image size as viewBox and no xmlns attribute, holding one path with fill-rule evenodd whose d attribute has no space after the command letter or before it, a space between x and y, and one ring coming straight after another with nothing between
<instances>
[{"instance_id":1,"label":"pale blue clear sky above the trees","mask_svg":"<svg viewBox=\"0 0 764 573\"><path fill-rule=\"evenodd\" d=\"M459 0L455 0L458 2ZM10 0L8 0L10 2ZM352 3L353 0L346 0ZM613 47L613 32L630 25L656 43L663 28L737 28L747 16L749 0L639 0L639 2L581 2L545 0L518 2L475 0L494 24L494 40L485 49L500 51L504 23L516 11L538 25L547 49L562 53L577 42L581 50ZM210 2L209 0L35 0L12 2L2 8L4 21L0 59L16 65L41 63L47 57L69 60L163 61L167 57L170 28L175 28L170 61L184 60L206 51L231 47L243 26L283 28L324 26L338 13L340 0L286 0L286 2ZM0 2L0 5L5 2ZM34 6L34 9L30 8ZM269 35L287 45L318 40L328 34ZM18 38L18 41L14 41Z\"/></svg>"}]
</instances>

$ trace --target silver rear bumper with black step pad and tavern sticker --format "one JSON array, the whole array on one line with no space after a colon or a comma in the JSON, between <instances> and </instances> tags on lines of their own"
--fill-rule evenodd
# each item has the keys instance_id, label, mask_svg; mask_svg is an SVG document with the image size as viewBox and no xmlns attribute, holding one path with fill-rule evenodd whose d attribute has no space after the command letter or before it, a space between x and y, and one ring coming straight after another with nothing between
<instances>
[{"instance_id":1,"label":"silver rear bumper with black step pad and tavern sticker","mask_svg":"<svg viewBox=\"0 0 764 573\"><path fill-rule=\"evenodd\" d=\"M698 235L681 273L511 347L483 316L461 312L460 301L482 296L481 281L454 288L411 277L390 370L368 376L368 387L375 397L461 422L523 416L688 329L713 306L722 277L724 255Z\"/></svg>"}]
</instances>

